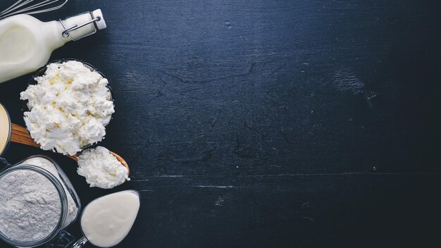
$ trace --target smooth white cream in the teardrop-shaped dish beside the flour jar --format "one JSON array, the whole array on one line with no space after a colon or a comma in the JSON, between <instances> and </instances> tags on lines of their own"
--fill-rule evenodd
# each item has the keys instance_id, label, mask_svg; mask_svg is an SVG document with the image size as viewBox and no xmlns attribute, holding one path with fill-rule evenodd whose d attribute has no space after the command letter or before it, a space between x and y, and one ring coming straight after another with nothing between
<instances>
[{"instance_id":1,"label":"smooth white cream in the teardrop-shaped dish beside the flour jar","mask_svg":"<svg viewBox=\"0 0 441 248\"><path fill-rule=\"evenodd\" d=\"M113 247L130 232L139 204L139 194L132 190L95 199L82 213L82 232L97 247Z\"/></svg>"}]
</instances>

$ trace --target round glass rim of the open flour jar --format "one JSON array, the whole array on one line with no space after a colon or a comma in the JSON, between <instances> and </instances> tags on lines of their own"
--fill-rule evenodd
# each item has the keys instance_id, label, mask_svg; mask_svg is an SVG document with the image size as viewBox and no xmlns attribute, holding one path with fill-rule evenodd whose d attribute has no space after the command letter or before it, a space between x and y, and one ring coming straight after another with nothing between
<instances>
[{"instance_id":1,"label":"round glass rim of the open flour jar","mask_svg":"<svg viewBox=\"0 0 441 248\"><path fill-rule=\"evenodd\" d=\"M4 240L8 244L12 244L12 245L18 246L18 247L35 247L35 246L44 244L46 242L49 242L49 240L51 240L52 238L54 238L57 235L57 233L63 227L64 221L66 221L67 205L68 205L68 199L66 196L66 192L64 192L63 186L61 185L61 182L57 178L55 178L54 175L51 175L51 173L49 173L49 171L44 170L44 168L39 168L38 166L32 166L27 163L23 163L23 164L20 164L20 166L14 166L12 168L6 169L5 171L2 171L0 173L0 180L5 175L8 175L9 173L13 173L15 171L33 171L35 173L39 173L40 175L43 175L44 178L49 180L49 182L51 182L52 185L54 185L56 191L58 192L58 196L60 197L60 218L58 219L58 223L55 226L54 230L52 230L49 235L42 238L41 240L35 240L35 241L31 241L31 242L22 242L20 240L12 240L10 237L4 235L1 232L0 232L0 239Z\"/></svg>"}]
</instances>

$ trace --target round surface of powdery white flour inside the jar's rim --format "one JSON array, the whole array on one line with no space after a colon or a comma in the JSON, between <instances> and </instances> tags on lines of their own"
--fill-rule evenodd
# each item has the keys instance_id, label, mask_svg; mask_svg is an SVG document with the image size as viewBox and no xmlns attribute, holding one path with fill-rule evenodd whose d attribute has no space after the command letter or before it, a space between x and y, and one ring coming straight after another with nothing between
<instances>
[{"instance_id":1,"label":"round surface of powdery white flour inside the jar's rim","mask_svg":"<svg viewBox=\"0 0 441 248\"><path fill-rule=\"evenodd\" d=\"M32 242L49 236L61 215L60 195L43 175L13 171L0 180L0 232Z\"/></svg>"}]
</instances>

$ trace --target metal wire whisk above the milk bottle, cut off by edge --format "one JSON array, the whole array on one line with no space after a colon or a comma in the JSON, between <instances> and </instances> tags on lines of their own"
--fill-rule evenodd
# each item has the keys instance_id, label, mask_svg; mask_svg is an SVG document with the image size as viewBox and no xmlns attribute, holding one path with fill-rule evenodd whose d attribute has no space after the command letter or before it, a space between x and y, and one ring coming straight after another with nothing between
<instances>
[{"instance_id":1,"label":"metal wire whisk above the milk bottle, cut off by edge","mask_svg":"<svg viewBox=\"0 0 441 248\"><path fill-rule=\"evenodd\" d=\"M0 12L0 19L20 13L37 14L54 11L63 7L67 2L68 0L18 0Z\"/></svg>"}]
</instances>

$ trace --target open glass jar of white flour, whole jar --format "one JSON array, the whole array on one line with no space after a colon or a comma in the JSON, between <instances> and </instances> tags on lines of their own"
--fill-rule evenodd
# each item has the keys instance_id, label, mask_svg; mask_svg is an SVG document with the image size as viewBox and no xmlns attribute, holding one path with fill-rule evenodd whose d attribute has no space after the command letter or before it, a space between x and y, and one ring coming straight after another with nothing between
<instances>
[{"instance_id":1,"label":"open glass jar of white flour, whole jar","mask_svg":"<svg viewBox=\"0 0 441 248\"><path fill-rule=\"evenodd\" d=\"M15 247L60 242L80 208L66 174L47 156L30 156L0 173L0 238Z\"/></svg>"}]
</instances>

